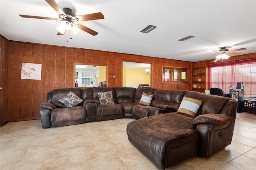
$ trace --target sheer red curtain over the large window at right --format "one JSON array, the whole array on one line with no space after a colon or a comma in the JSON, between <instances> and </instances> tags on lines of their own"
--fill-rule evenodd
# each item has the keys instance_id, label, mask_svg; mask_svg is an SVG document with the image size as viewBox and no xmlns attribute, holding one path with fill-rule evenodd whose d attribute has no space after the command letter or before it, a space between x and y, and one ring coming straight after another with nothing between
<instances>
[{"instance_id":1,"label":"sheer red curtain over the large window at right","mask_svg":"<svg viewBox=\"0 0 256 170\"><path fill-rule=\"evenodd\" d=\"M242 82L245 97L256 96L256 58L209 64L208 88L221 88L228 93L230 86Z\"/></svg>"}]
</instances>

